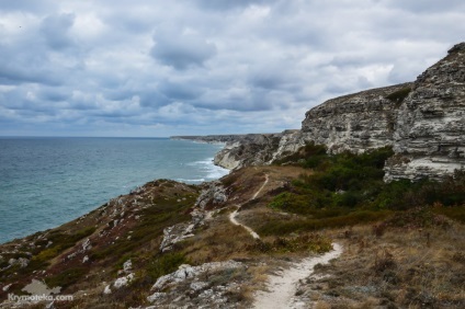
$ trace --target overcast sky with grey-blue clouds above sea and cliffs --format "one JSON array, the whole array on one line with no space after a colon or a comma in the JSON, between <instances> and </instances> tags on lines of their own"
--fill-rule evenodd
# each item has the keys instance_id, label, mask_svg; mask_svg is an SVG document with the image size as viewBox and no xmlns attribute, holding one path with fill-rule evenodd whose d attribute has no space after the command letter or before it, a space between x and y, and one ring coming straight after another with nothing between
<instances>
[{"instance_id":1,"label":"overcast sky with grey-blue clouds above sea and cliffs","mask_svg":"<svg viewBox=\"0 0 465 309\"><path fill-rule=\"evenodd\" d=\"M0 0L0 136L299 128L413 81L464 21L463 0Z\"/></svg>"}]
</instances>

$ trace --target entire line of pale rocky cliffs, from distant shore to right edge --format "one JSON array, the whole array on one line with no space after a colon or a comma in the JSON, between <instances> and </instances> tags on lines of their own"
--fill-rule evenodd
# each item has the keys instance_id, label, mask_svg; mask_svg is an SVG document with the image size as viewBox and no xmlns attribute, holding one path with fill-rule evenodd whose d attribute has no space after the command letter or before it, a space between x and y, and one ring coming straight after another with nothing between
<instances>
[{"instance_id":1,"label":"entire line of pale rocky cliffs, from distant shore to right edge","mask_svg":"<svg viewBox=\"0 0 465 309\"><path fill-rule=\"evenodd\" d=\"M226 142L215 163L227 169L269 164L307 142L331 153L393 146L386 181L441 179L465 167L465 43L415 82L326 101L305 114L300 130L179 138Z\"/></svg>"}]
</instances>

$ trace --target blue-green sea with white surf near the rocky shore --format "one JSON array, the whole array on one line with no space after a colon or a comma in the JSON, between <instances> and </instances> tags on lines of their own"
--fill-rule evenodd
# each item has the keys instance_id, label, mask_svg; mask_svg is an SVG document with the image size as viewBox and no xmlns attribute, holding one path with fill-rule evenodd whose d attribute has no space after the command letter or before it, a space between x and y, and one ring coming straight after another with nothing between
<instances>
[{"instance_id":1,"label":"blue-green sea with white surf near the rocky shore","mask_svg":"<svg viewBox=\"0 0 465 309\"><path fill-rule=\"evenodd\" d=\"M222 145L169 138L0 137L0 243L60 226L156 179L199 184L227 170Z\"/></svg>"}]
</instances>

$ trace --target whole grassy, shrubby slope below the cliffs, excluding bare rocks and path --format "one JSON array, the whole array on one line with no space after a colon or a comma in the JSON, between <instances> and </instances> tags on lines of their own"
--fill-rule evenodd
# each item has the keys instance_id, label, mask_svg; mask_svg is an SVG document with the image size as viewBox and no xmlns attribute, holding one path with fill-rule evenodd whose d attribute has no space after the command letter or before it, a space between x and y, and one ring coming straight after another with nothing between
<instances>
[{"instance_id":1,"label":"whole grassy, shrubby slope below the cliffs, excluding bare rocks and path","mask_svg":"<svg viewBox=\"0 0 465 309\"><path fill-rule=\"evenodd\" d=\"M208 288L235 281L240 288L229 298L249 304L254 288L265 282L266 267L272 268L264 264L280 265L310 252L326 252L337 239L347 253L329 268L321 267L333 277L318 282L318 297L329 305L465 304L458 288L464 278L456 275L465 265L463 225L449 219L465 222L465 173L456 172L442 183L386 184L383 167L393 154L389 148L359 156L330 156L326 150L307 145L275 165L245 168L223 178L228 202L207 203L212 219L169 252L159 250L163 229L191 220L201 187L172 181L148 183L76 221L5 245L9 250L0 261L0 284L13 283L9 291L21 295L34 274L41 274L49 287L91 295L59 308L127 308L149 305L147 296L157 278L181 264L236 259L248 267L218 271L203 279ZM265 179L270 181L252 198ZM229 221L238 205L238 220L256 230L261 240ZM87 239L92 248L80 252ZM8 268L11 258L27 258L30 264ZM102 294L104 285L125 274L123 264L128 260L135 279L111 295ZM426 260L434 264L423 263ZM451 271L444 265L452 265ZM163 291L182 295L190 290L191 282ZM316 288L311 284L302 293L308 291L309 299L315 299ZM192 297L200 293L191 291L185 301L194 301Z\"/></svg>"}]
</instances>

